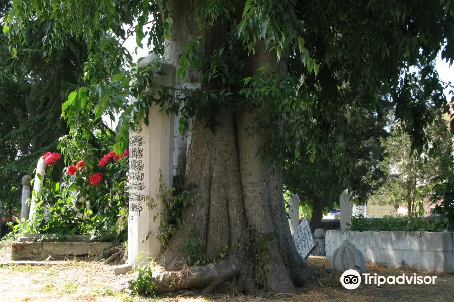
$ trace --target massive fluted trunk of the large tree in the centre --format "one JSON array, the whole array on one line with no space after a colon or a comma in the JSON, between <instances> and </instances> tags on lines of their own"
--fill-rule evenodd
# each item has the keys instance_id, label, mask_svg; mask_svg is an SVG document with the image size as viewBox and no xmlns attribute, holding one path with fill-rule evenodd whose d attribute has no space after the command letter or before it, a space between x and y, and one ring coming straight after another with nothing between
<instances>
[{"instance_id":1,"label":"massive fluted trunk of the large tree in the centre","mask_svg":"<svg viewBox=\"0 0 454 302\"><path fill-rule=\"evenodd\" d=\"M165 58L178 68L183 45L197 36L196 24L190 18L193 8L189 0L169 4L169 11L175 26L172 39L166 42ZM199 53L209 56L223 42L220 37L228 24L222 26L214 26L206 35ZM268 65L270 60L270 66L275 66L275 55L259 43L251 70ZM282 70L285 72L285 68ZM192 81L197 82L198 77L200 74L193 72ZM206 127L204 120L193 120L189 129L176 137L174 173L183 173L185 181L195 184L200 195L183 214L187 228L173 236L159 264L172 271L168 276L182 275L178 271L187 269L189 254L182 247L195 236L203 243L209 261L224 264L211 266L216 282L206 282L206 278L198 282L199 277L194 277L185 279L187 284L202 287L205 292L228 288L247 293L259 288L292 291L305 284L309 273L290 234L282 196L282 168L277 164L269 168L255 157L265 142L265 134L248 137L245 128L253 118L248 110L234 112L227 106L220 110L219 118L220 125L214 130ZM221 260L220 251L225 246L228 256ZM226 264L229 259L235 259L235 264ZM209 270L198 265L197 272Z\"/></svg>"}]
</instances>

